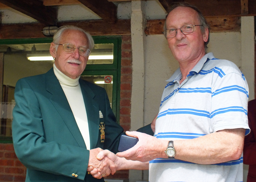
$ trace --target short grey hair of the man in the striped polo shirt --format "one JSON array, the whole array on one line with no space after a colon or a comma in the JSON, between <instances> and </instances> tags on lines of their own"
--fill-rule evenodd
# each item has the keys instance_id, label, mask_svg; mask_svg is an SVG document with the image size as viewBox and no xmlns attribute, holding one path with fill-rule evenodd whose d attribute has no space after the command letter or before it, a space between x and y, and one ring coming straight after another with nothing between
<instances>
[{"instance_id":1,"label":"short grey hair of the man in the striped polo shirt","mask_svg":"<svg viewBox=\"0 0 256 182\"><path fill-rule=\"evenodd\" d=\"M199 23L200 23L200 25L202 25L202 26L200 26L201 32L204 33L206 31L206 29L208 28L208 33L209 33L208 40L206 42L204 42L204 49L206 50L207 49L207 44L210 41L210 26L207 23L205 17L201 13L201 11L195 5L193 5L193 4L189 4L187 2L175 2L175 3L172 3L172 5L169 7L169 9L167 11L166 18L169 15L169 13L171 11L173 11L173 9L175 9L177 7L188 7L188 8L194 9L197 12ZM163 30L164 31L166 30L166 21L165 21L165 24L163 26Z\"/></svg>"}]
</instances>

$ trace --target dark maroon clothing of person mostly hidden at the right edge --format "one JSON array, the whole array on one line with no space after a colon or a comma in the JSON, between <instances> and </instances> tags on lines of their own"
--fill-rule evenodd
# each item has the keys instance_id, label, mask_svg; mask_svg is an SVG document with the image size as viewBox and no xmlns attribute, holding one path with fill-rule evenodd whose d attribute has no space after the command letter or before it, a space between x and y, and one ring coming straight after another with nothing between
<instances>
[{"instance_id":1,"label":"dark maroon clothing of person mostly hidden at the right edge","mask_svg":"<svg viewBox=\"0 0 256 182\"><path fill-rule=\"evenodd\" d=\"M256 99L248 102L248 124L251 132L244 138L244 164L256 165Z\"/></svg>"}]
</instances>

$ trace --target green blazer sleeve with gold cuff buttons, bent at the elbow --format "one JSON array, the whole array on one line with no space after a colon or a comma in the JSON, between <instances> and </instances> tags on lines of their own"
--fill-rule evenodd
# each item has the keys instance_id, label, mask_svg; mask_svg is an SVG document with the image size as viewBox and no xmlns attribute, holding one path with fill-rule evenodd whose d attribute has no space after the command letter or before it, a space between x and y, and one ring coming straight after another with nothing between
<instances>
[{"instance_id":1,"label":"green blazer sleeve with gold cuff buttons, bent at the elbow","mask_svg":"<svg viewBox=\"0 0 256 182\"><path fill-rule=\"evenodd\" d=\"M16 106L13 110L12 137L20 162L28 169L83 180L86 175L89 150L79 146L46 142L37 95L26 79L17 82ZM38 93L37 93L38 94ZM54 117L52 122L54 122ZM49 174L50 175L50 174Z\"/></svg>"}]
</instances>

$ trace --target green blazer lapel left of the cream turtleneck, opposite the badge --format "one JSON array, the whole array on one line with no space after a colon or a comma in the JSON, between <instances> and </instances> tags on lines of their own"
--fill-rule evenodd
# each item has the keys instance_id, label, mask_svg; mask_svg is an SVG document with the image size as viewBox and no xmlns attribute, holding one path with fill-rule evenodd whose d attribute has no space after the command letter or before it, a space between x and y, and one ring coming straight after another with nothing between
<instances>
[{"instance_id":1,"label":"green blazer lapel left of the cream turtleneck, opposite the badge","mask_svg":"<svg viewBox=\"0 0 256 182\"><path fill-rule=\"evenodd\" d=\"M46 73L46 90L52 94L52 96L49 98L50 101L61 115L64 123L67 125L78 145L86 149L82 134L76 124L76 120L69 106L65 93L60 86L60 82L54 74L53 68Z\"/></svg>"}]
</instances>

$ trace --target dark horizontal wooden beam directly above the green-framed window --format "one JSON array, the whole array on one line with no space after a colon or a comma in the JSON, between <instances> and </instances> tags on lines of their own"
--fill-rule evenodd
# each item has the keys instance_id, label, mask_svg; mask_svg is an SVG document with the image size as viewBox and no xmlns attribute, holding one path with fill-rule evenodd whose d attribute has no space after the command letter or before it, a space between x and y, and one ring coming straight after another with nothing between
<instances>
[{"instance_id":1,"label":"dark horizontal wooden beam directly above the green-framed window","mask_svg":"<svg viewBox=\"0 0 256 182\"><path fill-rule=\"evenodd\" d=\"M75 21L58 23L57 26L75 25L83 28L91 35L131 35L131 20L118 20L115 24L109 24L103 20ZM1 24L0 39L25 39L45 37L42 23L30 24Z\"/></svg>"}]
</instances>

